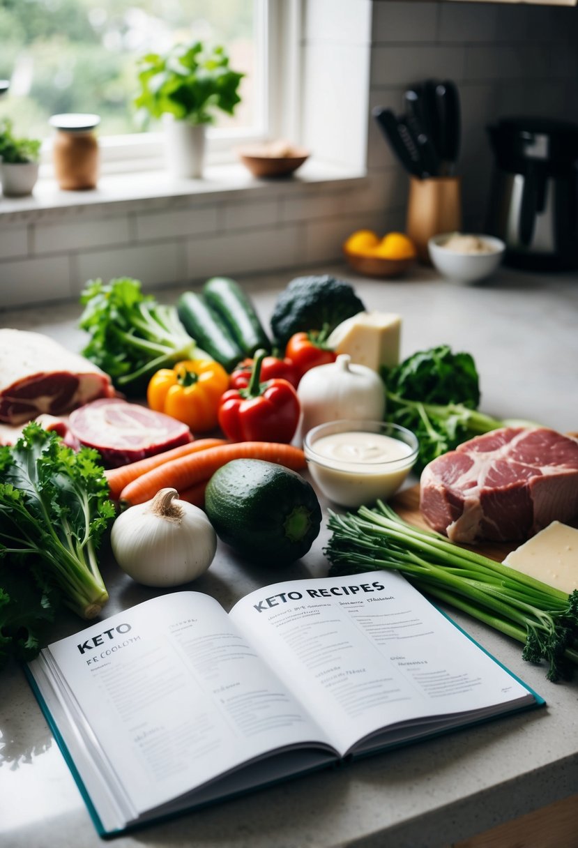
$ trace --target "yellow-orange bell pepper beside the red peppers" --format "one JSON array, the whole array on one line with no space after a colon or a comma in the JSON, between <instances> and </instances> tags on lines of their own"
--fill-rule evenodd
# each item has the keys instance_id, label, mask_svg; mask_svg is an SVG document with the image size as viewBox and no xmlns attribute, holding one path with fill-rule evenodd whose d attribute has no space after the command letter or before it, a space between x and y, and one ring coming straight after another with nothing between
<instances>
[{"instance_id":1,"label":"yellow-orange bell pepper beside the red peppers","mask_svg":"<svg viewBox=\"0 0 578 848\"><path fill-rule=\"evenodd\" d=\"M161 368L151 377L147 403L155 412L182 421L192 432L217 427L220 396L229 388L229 375L212 360L184 360Z\"/></svg>"}]
</instances>

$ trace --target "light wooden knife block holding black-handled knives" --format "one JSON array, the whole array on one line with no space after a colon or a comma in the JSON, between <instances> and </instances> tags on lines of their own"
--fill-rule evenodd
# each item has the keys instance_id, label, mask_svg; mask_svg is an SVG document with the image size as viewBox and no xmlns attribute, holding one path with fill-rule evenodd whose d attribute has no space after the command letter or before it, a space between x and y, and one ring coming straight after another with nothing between
<instances>
[{"instance_id":1,"label":"light wooden knife block holding black-handled knives","mask_svg":"<svg viewBox=\"0 0 578 848\"><path fill-rule=\"evenodd\" d=\"M431 265L428 240L462 226L462 184L459 176L409 178L405 232L413 241L422 265Z\"/></svg>"}]
</instances>

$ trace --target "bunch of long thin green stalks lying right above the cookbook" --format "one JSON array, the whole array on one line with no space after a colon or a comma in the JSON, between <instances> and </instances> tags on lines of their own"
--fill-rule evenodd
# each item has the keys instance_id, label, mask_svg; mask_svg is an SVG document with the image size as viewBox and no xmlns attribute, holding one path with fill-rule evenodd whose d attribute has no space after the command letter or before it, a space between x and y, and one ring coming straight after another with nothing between
<instances>
[{"instance_id":1,"label":"bunch of long thin green stalks lying right above the cookbook","mask_svg":"<svg viewBox=\"0 0 578 848\"><path fill-rule=\"evenodd\" d=\"M569 595L414 527L379 500L355 515L330 511L328 527L331 574L401 572L420 591L523 643L525 660L547 661L548 680L571 677L578 665L578 590Z\"/></svg>"}]
</instances>

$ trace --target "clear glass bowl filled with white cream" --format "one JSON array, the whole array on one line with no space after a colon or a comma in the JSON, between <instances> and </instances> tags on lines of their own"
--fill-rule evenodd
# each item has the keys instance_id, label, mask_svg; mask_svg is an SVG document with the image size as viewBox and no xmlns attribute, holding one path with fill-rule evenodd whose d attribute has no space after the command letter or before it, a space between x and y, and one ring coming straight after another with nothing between
<instances>
[{"instance_id":1,"label":"clear glass bowl filled with white cream","mask_svg":"<svg viewBox=\"0 0 578 848\"><path fill-rule=\"evenodd\" d=\"M390 499L414 466L418 447L413 432L386 421L329 421L303 440L321 494L349 508Z\"/></svg>"}]
</instances>

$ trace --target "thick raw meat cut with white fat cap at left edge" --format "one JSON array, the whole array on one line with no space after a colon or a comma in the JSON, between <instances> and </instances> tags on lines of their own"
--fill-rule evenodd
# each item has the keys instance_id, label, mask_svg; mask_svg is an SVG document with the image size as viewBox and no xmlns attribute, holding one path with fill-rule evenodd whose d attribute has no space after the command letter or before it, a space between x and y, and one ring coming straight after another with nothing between
<instances>
[{"instance_id":1,"label":"thick raw meat cut with white fat cap at left edge","mask_svg":"<svg viewBox=\"0 0 578 848\"><path fill-rule=\"evenodd\" d=\"M104 371L53 338L0 330L0 421L23 424L42 413L58 416L113 395Z\"/></svg>"}]
</instances>

